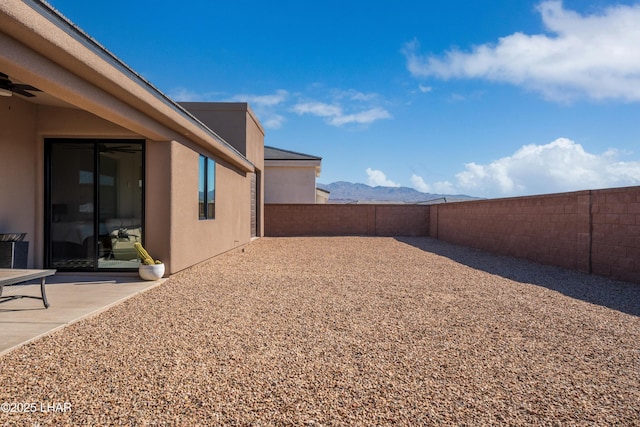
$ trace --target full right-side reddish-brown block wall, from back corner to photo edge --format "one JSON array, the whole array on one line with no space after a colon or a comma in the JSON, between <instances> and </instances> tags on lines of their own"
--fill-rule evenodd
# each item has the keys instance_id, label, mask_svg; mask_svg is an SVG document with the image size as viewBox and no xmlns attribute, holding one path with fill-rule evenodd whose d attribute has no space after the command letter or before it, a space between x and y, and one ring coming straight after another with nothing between
<instances>
[{"instance_id":1,"label":"full right-side reddish-brown block wall, from back corner to photo edge","mask_svg":"<svg viewBox=\"0 0 640 427\"><path fill-rule=\"evenodd\" d=\"M640 187L431 206L429 235L640 283Z\"/></svg>"}]
</instances>

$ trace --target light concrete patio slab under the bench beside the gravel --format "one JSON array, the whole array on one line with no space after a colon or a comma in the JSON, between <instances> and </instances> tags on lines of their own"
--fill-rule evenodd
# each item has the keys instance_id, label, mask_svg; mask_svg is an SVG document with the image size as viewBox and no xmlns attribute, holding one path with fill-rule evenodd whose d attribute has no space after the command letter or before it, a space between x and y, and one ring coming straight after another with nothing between
<instances>
[{"instance_id":1,"label":"light concrete patio slab under the bench beside the gravel","mask_svg":"<svg viewBox=\"0 0 640 427\"><path fill-rule=\"evenodd\" d=\"M78 275L57 273L46 285L51 306L22 298L0 304L0 355L66 325L95 315L166 279L142 281L137 275ZM3 295L40 296L40 282L5 287Z\"/></svg>"}]
</instances>

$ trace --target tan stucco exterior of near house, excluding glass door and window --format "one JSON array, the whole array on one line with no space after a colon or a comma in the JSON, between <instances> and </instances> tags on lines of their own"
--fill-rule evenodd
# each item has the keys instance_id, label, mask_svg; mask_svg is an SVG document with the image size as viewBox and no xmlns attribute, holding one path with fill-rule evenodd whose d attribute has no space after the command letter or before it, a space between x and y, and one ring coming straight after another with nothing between
<instances>
[{"instance_id":1,"label":"tan stucco exterior of near house, excluding glass door and window","mask_svg":"<svg viewBox=\"0 0 640 427\"><path fill-rule=\"evenodd\" d=\"M264 131L246 104L237 114L244 125L231 126L246 137L243 156L55 13L0 2L0 20L0 71L42 90L38 105L0 97L0 232L28 233L30 267L44 262L48 137L146 141L145 243L167 272L250 240L250 177L263 167ZM198 153L217 161L211 221L198 220Z\"/></svg>"}]
</instances>

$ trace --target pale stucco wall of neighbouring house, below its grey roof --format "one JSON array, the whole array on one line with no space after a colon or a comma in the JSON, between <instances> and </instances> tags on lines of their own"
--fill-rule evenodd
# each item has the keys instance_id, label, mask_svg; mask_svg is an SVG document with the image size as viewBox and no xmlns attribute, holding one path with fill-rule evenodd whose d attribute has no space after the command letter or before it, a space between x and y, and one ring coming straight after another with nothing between
<instances>
[{"instance_id":1,"label":"pale stucco wall of neighbouring house, below its grey roof","mask_svg":"<svg viewBox=\"0 0 640 427\"><path fill-rule=\"evenodd\" d=\"M316 168L270 166L267 162L264 189L265 203L315 203Z\"/></svg>"}]
</instances>

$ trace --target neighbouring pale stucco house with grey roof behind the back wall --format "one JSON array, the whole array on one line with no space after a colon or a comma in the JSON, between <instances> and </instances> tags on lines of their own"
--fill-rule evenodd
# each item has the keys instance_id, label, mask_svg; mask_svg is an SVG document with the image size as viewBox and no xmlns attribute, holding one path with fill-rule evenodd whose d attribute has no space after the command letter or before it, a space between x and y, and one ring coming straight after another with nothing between
<instances>
[{"instance_id":1,"label":"neighbouring pale stucco house with grey roof behind the back wall","mask_svg":"<svg viewBox=\"0 0 640 427\"><path fill-rule=\"evenodd\" d=\"M316 187L322 157L264 147L265 203L326 203L329 194Z\"/></svg>"}]
</instances>

